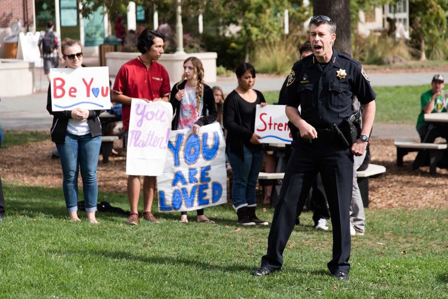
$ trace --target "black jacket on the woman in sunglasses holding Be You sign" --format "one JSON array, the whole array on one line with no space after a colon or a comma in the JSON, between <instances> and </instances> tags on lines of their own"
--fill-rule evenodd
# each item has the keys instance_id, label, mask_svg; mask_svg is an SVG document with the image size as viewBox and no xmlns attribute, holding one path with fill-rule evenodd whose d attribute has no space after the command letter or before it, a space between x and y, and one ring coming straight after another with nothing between
<instances>
[{"instance_id":1,"label":"black jacket on the woman in sunglasses holding Be You sign","mask_svg":"<svg viewBox=\"0 0 448 299\"><path fill-rule=\"evenodd\" d=\"M53 115L53 124L51 125L51 141L55 143L65 143L65 133L67 132L68 120L72 118L71 110L53 111L51 109L51 88L48 86L47 111ZM87 124L89 125L92 137L101 136L101 123L98 117L103 110L89 110Z\"/></svg>"}]
</instances>

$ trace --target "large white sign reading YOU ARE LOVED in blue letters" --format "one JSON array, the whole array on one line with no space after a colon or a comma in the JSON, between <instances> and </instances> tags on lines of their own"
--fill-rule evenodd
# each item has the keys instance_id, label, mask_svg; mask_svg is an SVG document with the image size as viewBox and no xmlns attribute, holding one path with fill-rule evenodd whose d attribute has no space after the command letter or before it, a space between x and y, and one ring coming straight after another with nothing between
<instances>
[{"instance_id":1,"label":"large white sign reading YOU ARE LOVED in blue letters","mask_svg":"<svg viewBox=\"0 0 448 299\"><path fill-rule=\"evenodd\" d=\"M227 202L225 142L219 123L171 131L163 174L157 178L159 210L191 211Z\"/></svg>"}]
</instances>

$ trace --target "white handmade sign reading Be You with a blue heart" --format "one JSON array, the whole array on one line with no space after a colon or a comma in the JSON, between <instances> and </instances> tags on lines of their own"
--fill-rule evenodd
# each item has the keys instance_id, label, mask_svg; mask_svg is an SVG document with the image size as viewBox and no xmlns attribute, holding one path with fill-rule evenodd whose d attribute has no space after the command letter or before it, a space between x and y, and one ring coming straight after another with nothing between
<instances>
[{"instance_id":1,"label":"white handmade sign reading Be You with a blue heart","mask_svg":"<svg viewBox=\"0 0 448 299\"><path fill-rule=\"evenodd\" d=\"M111 108L109 68L50 69L53 111Z\"/></svg>"}]
</instances>

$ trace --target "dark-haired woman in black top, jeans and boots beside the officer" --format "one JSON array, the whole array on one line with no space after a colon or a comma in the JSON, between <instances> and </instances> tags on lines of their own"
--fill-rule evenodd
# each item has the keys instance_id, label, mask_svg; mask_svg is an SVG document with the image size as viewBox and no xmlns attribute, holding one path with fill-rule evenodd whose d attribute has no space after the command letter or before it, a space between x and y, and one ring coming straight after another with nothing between
<instances>
[{"instance_id":1,"label":"dark-haired woman in black top, jeans and boots beside the officer","mask_svg":"<svg viewBox=\"0 0 448 299\"><path fill-rule=\"evenodd\" d=\"M263 94L253 88L255 69L248 63L236 68L238 87L224 100L226 153L233 173L232 200L238 224L267 225L255 215L255 186L263 163L263 148L254 133L257 104L266 105Z\"/></svg>"}]
</instances>

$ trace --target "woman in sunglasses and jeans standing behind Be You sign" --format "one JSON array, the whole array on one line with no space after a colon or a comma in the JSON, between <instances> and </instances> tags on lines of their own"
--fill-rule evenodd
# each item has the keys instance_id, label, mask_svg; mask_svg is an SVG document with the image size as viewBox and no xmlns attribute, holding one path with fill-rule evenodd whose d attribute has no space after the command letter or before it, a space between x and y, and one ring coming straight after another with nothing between
<instances>
[{"instance_id":1,"label":"woman in sunglasses and jeans standing behind Be You sign","mask_svg":"<svg viewBox=\"0 0 448 299\"><path fill-rule=\"evenodd\" d=\"M67 68L83 67L81 43L66 38L61 45ZM50 83L51 85L51 83ZM78 172L81 169L87 219L98 224L95 217L98 199L97 167L101 147L100 110L74 108L65 111L51 109L51 89L48 87L47 110L53 115L51 140L56 143L61 160L65 204L72 221L78 217Z\"/></svg>"}]
</instances>

